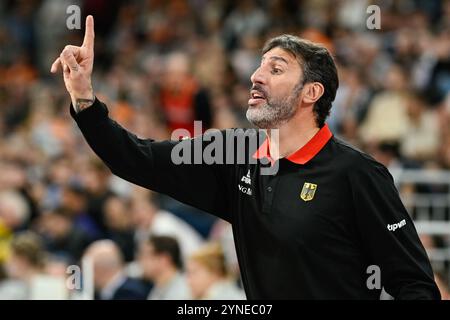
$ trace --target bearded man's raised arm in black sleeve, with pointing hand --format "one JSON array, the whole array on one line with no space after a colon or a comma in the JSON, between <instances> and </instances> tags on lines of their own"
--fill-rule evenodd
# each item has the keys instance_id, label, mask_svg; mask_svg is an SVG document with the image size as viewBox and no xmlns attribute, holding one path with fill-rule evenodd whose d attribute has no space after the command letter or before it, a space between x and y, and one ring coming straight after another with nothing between
<instances>
[{"instance_id":1,"label":"bearded man's raised arm in black sleeve, with pointing hand","mask_svg":"<svg viewBox=\"0 0 450 320\"><path fill-rule=\"evenodd\" d=\"M139 139L111 120L106 106L94 96L93 64L94 18L88 16L83 44L66 46L52 64L51 72L62 67L72 100L71 114L94 152L119 177L230 221L226 179L232 174L223 172L230 167L175 165L171 159L173 147L184 143L193 151L193 140Z\"/></svg>"}]
</instances>

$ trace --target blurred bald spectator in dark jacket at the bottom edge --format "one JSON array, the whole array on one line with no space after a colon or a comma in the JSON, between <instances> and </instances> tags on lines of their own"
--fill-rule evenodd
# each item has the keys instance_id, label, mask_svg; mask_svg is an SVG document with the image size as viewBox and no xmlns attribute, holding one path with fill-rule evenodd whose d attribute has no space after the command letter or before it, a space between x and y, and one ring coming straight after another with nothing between
<instances>
[{"instance_id":1,"label":"blurred bald spectator in dark jacket at the bottom edge","mask_svg":"<svg viewBox=\"0 0 450 320\"><path fill-rule=\"evenodd\" d=\"M122 254L113 241L94 242L84 257L93 264L95 299L143 300L147 297L146 287L126 276Z\"/></svg>"}]
</instances>

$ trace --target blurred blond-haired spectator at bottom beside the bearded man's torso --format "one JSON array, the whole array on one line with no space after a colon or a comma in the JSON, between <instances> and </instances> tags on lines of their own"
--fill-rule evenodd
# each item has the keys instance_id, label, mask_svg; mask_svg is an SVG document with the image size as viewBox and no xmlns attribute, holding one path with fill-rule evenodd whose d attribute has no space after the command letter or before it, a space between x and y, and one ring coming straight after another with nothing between
<instances>
[{"instance_id":1,"label":"blurred blond-haired spectator at bottom beside the bearded man's torso","mask_svg":"<svg viewBox=\"0 0 450 320\"><path fill-rule=\"evenodd\" d=\"M194 299L245 299L245 293L237 287L235 279L228 278L225 256L220 245L206 245L189 258L187 279Z\"/></svg>"}]
</instances>

